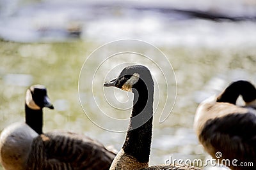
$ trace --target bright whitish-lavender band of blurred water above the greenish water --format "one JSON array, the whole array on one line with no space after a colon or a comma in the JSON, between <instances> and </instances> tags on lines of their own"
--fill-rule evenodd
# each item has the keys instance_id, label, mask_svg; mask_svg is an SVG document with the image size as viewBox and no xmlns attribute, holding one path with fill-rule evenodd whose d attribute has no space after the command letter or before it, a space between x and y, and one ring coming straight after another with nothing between
<instances>
[{"instance_id":1,"label":"bright whitish-lavender band of blurred water above the greenish water","mask_svg":"<svg viewBox=\"0 0 256 170\"><path fill-rule=\"evenodd\" d=\"M162 46L210 48L256 43L256 4L253 1L0 2L0 37L12 41L81 38L106 42L135 38ZM246 20L198 19L191 10Z\"/></svg>"}]
</instances>

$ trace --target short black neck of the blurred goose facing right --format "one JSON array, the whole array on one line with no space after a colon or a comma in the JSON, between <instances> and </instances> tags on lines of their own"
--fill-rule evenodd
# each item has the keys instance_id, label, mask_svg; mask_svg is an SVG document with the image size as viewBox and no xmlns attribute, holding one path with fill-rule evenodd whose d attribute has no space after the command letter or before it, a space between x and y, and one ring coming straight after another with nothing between
<instances>
[{"instance_id":1,"label":"short black neck of the blurred goose facing right","mask_svg":"<svg viewBox=\"0 0 256 170\"><path fill-rule=\"evenodd\" d=\"M25 104L25 121L38 134L43 134L43 110L33 110Z\"/></svg>"}]
</instances>

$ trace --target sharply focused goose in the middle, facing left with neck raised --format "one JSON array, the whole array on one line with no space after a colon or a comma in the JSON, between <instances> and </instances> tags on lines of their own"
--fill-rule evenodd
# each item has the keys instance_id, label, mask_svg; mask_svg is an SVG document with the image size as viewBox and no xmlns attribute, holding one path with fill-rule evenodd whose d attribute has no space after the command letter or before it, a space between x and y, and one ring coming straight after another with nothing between
<instances>
[{"instance_id":1,"label":"sharply focused goose in the middle, facing left with neck raised","mask_svg":"<svg viewBox=\"0 0 256 170\"><path fill-rule=\"evenodd\" d=\"M148 167L152 138L154 81L147 67L140 65L125 67L118 78L104 83L104 87L117 87L134 94L125 143L109 170L200 169L182 165Z\"/></svg>"}]
</instances>

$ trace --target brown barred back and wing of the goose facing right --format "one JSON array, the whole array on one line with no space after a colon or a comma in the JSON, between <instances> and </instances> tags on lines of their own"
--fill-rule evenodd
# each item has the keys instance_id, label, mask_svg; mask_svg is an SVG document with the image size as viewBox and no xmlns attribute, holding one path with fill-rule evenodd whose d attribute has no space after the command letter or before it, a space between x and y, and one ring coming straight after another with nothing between
<instances>
[{"instance_id":1,"label":"brown barred back and wing of the goose facing right","mask_svg":"<svg viewBox=\"0 0 256 170\"><path fill-rule=\"evenodd\" d=\"M72 132L49 132L35 138L28 169L109 169L115 153L98 141Z\"/></svg>"}]
</instances>

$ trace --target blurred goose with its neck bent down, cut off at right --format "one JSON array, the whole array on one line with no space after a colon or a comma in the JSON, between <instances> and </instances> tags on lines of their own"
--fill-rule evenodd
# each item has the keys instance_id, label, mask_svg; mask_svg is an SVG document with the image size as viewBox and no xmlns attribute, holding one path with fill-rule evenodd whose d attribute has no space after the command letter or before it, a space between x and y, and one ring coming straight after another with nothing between
<instances>
[{"instance_id":1,"label":"blurred goose with its neck bent down, cut off at right","mask_svg":"<svg viewBox=\"0 0 256 170\"><path fill-rule=\"evenodd\" d=\"M236 106L239 95L243 97L245 106ZM242 80L231 83L220 96L200 103L194 127L205 150L215 159L230 160L232 169L255 169L255 108L256 89ZM216 155L218 152L222 155ZM241 162L253 162L254 167L240 166Z\"/></svg>"}]
</instances>

